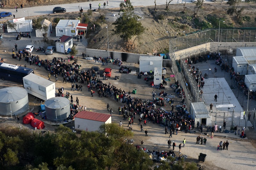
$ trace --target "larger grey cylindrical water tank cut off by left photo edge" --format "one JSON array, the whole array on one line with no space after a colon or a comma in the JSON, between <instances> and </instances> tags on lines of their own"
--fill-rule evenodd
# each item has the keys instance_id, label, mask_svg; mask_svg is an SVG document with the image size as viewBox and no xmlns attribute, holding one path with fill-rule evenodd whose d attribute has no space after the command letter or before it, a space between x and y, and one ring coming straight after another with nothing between
<instances>
[{"instance_id":1,"label":"larger grey cylindrical water tank cut off by left photo edge","mask_svg":"<svg viewBox=\"0 0 256 170\"><path fill-rule=\"evenodd\" d=\"M0 89L0 115L19 115L28 110L28 92L20 87Z\"/></svg>"}]
</instances>

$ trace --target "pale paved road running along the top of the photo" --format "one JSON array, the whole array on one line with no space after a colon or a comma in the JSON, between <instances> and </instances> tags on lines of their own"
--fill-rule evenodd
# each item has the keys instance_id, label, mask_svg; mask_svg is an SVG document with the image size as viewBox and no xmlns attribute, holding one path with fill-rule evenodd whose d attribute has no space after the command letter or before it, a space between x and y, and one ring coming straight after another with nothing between
<instances>
[{"instance_id":1,"label":"pale paved road running along the top of the photo","mask_svg":"<svg viewBox=\"0 0 256 170\"><path fill-rule=\"evenodd\" d=\"M177 2L181 3L182 0L173 0L170 4L177 4ZM15 15L15 18L22 18L22 17L31 17L31 16L40 16L40 15L47 15L47 14L53 14L52 9L56 6L61 6L63 8L66 8L67 12L78 12L78 6L82 6L82 9L88 10L89 9L89 4L92 4L92 9L98 9L99 3L101 4L101 9L103 9L103 3L105 1L93 1L93 2L83 2L83 3L74 3L74 4L60 4L60 5L48 5L45 7L42 6L35 6L35 7L28 7L28 8L23 8L23 9L18 9L18 12L14 9L3 9L6 12L12 12L12 14ZM109 8L119 8L121 0L109 0L108 3L109 5L106 5L106 9ZM185 0L184 0L185 2ZM131 3L133 6L153 6L155 5L154 1L148 1L148 0L131 0ZM190 0L187 0L187 3L192 3ZM204 3L214 3L211 2L210 0L205 0ZM156 0L157 5L165 5L166 0ZM18 6L19 7L19 6ZM3 11L0 10L0 11ZM25 12L24 12L25 11ZM3 19L0 19L0 21L4 20L9 20L13 19L13 17L6 17Z\"/></svg>"}]
</instances>

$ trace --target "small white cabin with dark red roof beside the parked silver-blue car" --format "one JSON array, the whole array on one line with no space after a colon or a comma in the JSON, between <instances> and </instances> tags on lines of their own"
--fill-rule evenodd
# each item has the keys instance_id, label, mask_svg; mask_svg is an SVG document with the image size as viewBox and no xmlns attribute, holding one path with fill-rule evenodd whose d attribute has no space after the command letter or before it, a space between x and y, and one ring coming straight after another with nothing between
<instances>
[{"instance_id":1,"label":"small white cabin with dark red roof beside the parked silver-blue car","mask_svg":"<svg viewBox=\"0 0 256 170\"><path fill-rule=\"evenodd\" d=\"M73 37L63 35L55 42L56 51L64 53L68 48L73 47Z\"/></svg>"}]
</instances>

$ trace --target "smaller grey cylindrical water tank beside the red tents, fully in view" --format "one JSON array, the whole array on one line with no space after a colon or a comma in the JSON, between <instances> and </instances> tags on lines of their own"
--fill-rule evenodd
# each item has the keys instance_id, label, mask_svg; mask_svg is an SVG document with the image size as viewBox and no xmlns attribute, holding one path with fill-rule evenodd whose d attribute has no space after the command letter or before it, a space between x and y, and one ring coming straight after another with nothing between
<instances>
[{"instance_id":1,"label":"smaller grey cylindrical water tank beside the red tents, fully in view","mask_svg":"<svg viewBox=\"0 0 256 170\"><path fill-rule=\"evenodd\" d=\"M65 97L53 97L44 102L47 120L60 122L70 115L70 102Z\"/></svg>"}]
</instances>

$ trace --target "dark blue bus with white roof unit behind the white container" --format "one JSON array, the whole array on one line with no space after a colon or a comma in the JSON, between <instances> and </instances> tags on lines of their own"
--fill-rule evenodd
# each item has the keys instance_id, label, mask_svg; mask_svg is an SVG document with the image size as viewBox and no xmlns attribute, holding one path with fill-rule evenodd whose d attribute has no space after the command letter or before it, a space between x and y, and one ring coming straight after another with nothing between
<instances>
[{"instance_id":1,"label":"dark blue bus with white roof unit behind the white container","mask_svg":"<svg viewBox=\"0 0 256 170\"><path fill-rule=\"evenodd\" d=\"M33 69L7 63L0 63L0 77L2 80L10 80L23 84L23 77L31 73L34 73Z\"/></svg>"}]
</instances>

